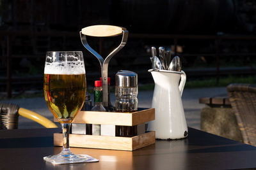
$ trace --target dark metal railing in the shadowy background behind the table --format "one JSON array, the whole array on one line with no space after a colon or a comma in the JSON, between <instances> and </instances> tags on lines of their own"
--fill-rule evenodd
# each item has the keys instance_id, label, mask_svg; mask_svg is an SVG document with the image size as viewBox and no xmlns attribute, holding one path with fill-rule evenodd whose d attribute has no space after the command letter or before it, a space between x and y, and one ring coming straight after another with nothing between
<instances>
[{"instance_id":1,"label":"dark metal railing in the shadowy background behind the table","mask_svg":"<svg viewBox=\"0 0 256 170\"><path fill-rule=\"evenodd\" d=\"M31 39L45 36L45 37L58 37L63 39L63 49L65 49L65 45L67 44L67 38L76 38L79 41L79 32L31 32L31 31L0 31L0 38L3 38L1 48L2 48L2 56L6 59L6 92L7 97L12 97L12 58L19 57L45 57L44 55L38 55L36 53L29 55L14 55L12 44L15 41L15 38L24 36L29 37ZM218 83L220 78L220 57L224 55L252 55L256 56L256 53L221 53L220 52L220 41L221 40L256 40L256 36L247 36L247 35L179 35L179 34L129 34L129 39L168 39L173 41L173 45L175 46L174 53L177 53L177 45L181 39L209 39L214 42L215 53L183 53L183 56L192 56L192 55L208 55L215 57L216 59L216 83ZM102 43L103 41L99 41L99 52L102 52L104 49ZM36 46L35 44L32 44ZM84 49L83 49L84 50ZM148 56L149 57L149 56ZM4 80L3 80L4 81Z\"/></svg>"}]
</instances>

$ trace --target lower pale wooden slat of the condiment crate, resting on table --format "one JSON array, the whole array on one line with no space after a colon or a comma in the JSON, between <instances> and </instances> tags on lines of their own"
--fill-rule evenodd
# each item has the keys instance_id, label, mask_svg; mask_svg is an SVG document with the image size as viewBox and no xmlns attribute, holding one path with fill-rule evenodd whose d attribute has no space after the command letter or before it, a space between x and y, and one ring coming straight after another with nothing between
<instances>
[{"instance_id":1,"label":"lower pale wooden slat of the condiment crate, resting on table","mask_svg":"<svg viewBox=\"0 0 256 170\"><path fill-rule=\"evenodd\" d=\"M92 136L83 134L70 134L69 145L79 148L98 148L109 150L137 150L156 143L155 132L147 132L134 136L113 137L113 136ZM62 134L54 133L54 146L62 146Z\"/></svg>"}]
</instances>

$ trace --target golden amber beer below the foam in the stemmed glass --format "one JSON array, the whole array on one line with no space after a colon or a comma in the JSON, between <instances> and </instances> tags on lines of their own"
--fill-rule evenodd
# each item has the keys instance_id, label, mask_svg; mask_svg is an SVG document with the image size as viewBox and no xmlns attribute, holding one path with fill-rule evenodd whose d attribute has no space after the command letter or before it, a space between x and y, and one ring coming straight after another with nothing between
<instances>
[{"instance_id":1,"label":"golden amber beer below the foam in the stemmed glass","mask_svg":"<svg viewBox=\"0 0 256 170\"><path fill-rule=\"evenodd\" d=\"M60 123L72 122L85 95L85 74L44 74L45 101Z\"/></svg>"}]
</instances>

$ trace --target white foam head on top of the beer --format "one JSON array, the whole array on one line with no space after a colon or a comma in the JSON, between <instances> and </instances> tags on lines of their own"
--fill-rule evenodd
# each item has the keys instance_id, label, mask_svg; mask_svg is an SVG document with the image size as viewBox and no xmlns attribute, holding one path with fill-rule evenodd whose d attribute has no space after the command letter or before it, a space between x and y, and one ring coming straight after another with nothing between
<instances>
[{"instance_id":1,"label":"white foam head on top of the beer","mask_svg":"<svg viewBox=\"0 0 256 170\"><path fill-rule=\"evenodd\" d=\"M58 58L56 55L59 54L47 53L45 74L85 74L83 56L77 56L74 52L67 53L67 55L61 53Z\"/></svg>"}]
</instances>

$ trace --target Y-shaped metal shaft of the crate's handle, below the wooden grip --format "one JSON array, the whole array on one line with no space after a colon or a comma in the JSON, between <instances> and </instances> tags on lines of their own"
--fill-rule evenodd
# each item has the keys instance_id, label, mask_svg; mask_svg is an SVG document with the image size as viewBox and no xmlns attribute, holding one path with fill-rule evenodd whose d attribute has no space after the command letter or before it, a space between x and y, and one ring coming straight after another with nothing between
<instances>
[{"instance_id":1,"label":"Y-shaped metal shaft of the crate's handle, below the wooden grip","mask_svg":"<svg viewBox=\"0 0 256 170\"><path fill-rule=\"evenodd\" d=\"M108 57L104 60L99 53L95 52L90 45L88 45L88 42L86 40L86 35L80 31L80 38L83 46L91 52L100 62L100 70L101 70L101 77L102 77L102 91L103 91L103 106L108 107L108 64L113 55L115 55L117 52L119 52L126 44L128 39L128 31L122 31L122 41L118 47L113 50L113 52L109 53Z\"/></svg>"}]
</instances>

